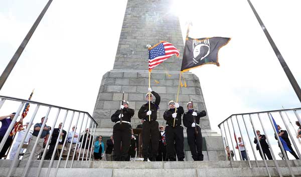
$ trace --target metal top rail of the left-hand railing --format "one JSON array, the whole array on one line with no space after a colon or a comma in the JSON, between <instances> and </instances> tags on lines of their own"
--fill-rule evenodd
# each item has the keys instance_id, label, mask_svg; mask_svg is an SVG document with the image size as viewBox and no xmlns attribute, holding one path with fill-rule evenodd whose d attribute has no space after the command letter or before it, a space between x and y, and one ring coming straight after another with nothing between
<instances>
[{"instance_id":1,"label":"metal top rail of the left-hand railing","mask_svg":"<svg viewBox=\"0 0 301 177\"><path fill-rule=\"evenodd\" d=\"M96 126L98 126L98 124L94 120L94 118L89 114L89 112L86 112L86 111L81 111L81 110L77 110L77 109L70 109L70 108L66 108L66 107L62 107L62 106L56 106L56 105L52 105L52 104L46 104L46 103L41 103L41 102L38 102L38 101L26 100L26 99L15 98L15 97L10 97L10 96L0 95L0 98L7 99L7 100L13 100L13 101L22 101L22 102L26 102L26 103L39 104L39 105L42 105L42 106L54 107L54 108L58 108L58 109L66 109L66 110L69 110L69 111L86 113L94 121L94 123L96 123Z\"/></svg>"}]
</instances>

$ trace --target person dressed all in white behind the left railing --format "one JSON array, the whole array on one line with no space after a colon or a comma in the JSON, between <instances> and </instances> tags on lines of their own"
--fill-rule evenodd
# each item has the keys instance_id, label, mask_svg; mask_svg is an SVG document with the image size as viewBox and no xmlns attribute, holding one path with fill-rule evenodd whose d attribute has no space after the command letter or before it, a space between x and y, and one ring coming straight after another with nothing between
<instances>
[{"instance_id":1,"label":"person dressed all in white behind the left railing","mask_svg":"<svg viewBox=\"0 0 301 177\"><path fill-rule=\"evenodd\" d=\"M16 142L15 142L15 144L13 145L12 150L11 150L11 153L10 153L10 159L11 159L11 160L13 160L13 159L15 158L15 155L16 155L16 153L17 153L18 147L19 147L19 145L20 145L22 139L23 139L24 136L25 136L25 132L26 132L26 129L27 129L28 124L29 124L29 122L26 122L26 124L23 125L23 126L25 126L24 130L21 130L21 131L18 132L18 136L17 136L17 138L16 138ZM32 123L32 124L33 124L33 123ZM24 140L24 144L28 144L29 140L30 140L31 137L33 136L32 133L33 133L33 132L30 130L29 133L27 134L25 140ZM20 153L22 153L23 150L24 150L24 149L22 148L21 151L20 151Z\"/></svg>"}]
</instances>

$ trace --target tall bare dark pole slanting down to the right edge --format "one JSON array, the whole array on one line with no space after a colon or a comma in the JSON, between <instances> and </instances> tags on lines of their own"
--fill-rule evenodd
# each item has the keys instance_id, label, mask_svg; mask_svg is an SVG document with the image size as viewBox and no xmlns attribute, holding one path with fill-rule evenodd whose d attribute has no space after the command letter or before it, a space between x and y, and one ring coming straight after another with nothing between
<instances>
[{"instance_id":1,"label":"tall bare dark pole slanting down to the right edge","mask_svg":"<svg viewBox=\"0 0 301 177\"><path fill-rule=\"evenodd\" d=\"M257 21L258 23L260 24L268 42L270 43L271 47L273 48L279 62L280 62L280 65L282 66L282 69L284 70L286 76L287 76L287 79L289 80L293 90L295 91L299 101L301 102L301 89L297 83L297 81L295 80L294 76L292 75L292 73L290 72L290 69L288 68L286 62L284 61L282 55L280 54L278 48L276 47L276 44L274 43L274 41L272 40L272 37L269 35L269 33L267 32L263 22L261 21L259 15L257 14L255 8L253 7L252 3L250 2L250 0L247 0L255 17L257 18Z\"/></svg>"}]
</instances>

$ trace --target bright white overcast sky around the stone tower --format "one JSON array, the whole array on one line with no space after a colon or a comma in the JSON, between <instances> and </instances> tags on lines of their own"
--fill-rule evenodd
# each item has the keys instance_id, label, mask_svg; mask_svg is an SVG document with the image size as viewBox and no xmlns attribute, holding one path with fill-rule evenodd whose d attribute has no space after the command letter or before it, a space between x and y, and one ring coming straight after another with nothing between
<instances>
[{"instance_id":1,"label":"bright white overcast sky around the stone tower","mask_svg":"<svg viewBox=\"0 0 301 177\"><path fill-rule=\"evenodd\" d=\"M1 73L46 3L0 2ZM252 3L301 84L301 2ZM183 35L191 20L190 37L232 38L219 52L220 67L191 71L200 78L212 129L234 113L301 107L247 1L172 4ZM0 95L27 99L35 88L35 101L92 115L102 75L113 68L125 7L124 0L53 1Z\"/></svg>"}]
</instances>

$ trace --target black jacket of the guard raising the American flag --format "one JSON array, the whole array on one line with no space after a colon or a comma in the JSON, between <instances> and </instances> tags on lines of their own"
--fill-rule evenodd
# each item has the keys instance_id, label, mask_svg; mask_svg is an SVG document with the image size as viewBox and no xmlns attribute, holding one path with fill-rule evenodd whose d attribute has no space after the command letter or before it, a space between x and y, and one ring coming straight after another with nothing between
<instances>
[{"instance_id":1,"label":"black jacket of the guard raising the American flag","mask_svg":"<svg viewBox=\"0 0 301 177\"><path fill-rule=\"evenodd\" d=\"M154 91L152 91L152 94L156 97L156 101L150 102L150 110L152 111L152 114L150 115L151 120L157 120L157 110L159 109L159 104L161 101L160 95ZM148 115L146 115L146 112L148 111L148 102L146 104L143 104L138 112L139 119L144 119L148 121Z\"/></svg>"}]
</instances>

